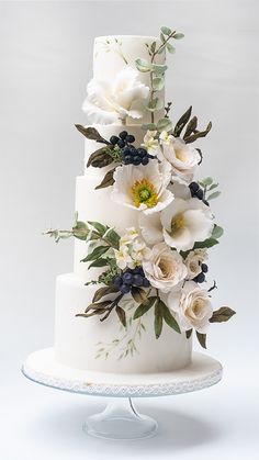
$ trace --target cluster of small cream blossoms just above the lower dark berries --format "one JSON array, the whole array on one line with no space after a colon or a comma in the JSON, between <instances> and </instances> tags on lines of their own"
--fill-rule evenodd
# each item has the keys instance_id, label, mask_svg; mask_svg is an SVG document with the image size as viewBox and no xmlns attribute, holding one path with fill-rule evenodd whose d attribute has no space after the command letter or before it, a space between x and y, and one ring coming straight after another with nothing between
<instances>
[{"instance_id":1,"label":"cluster of small cream blossoms just above the lower dark berries","mask_svg":"<svg viewBox=\"0 0 259 460\"><path fill-rule=\"evenodd\" d=\"M150 255L150 249L138 236L136 228L126 228L126 234L120 238L119 250L114 249L116 263L122 270L142 265L143 259Z\"/></svg>"}]
</instances>

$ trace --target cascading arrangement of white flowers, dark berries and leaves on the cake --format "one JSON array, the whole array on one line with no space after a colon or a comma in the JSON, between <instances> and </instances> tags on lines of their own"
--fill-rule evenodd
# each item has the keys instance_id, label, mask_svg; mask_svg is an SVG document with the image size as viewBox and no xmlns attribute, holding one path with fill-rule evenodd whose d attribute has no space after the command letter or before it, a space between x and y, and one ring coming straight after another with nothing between
<instances>
[{"instance_id":1,"label":"cascading arrangement of white flowers, dark berries and leaves on the cake","mask_svg":"<svg viewBox=\"0 0 259 460\"><path fill-rule=\"evenodd\" d=\"M136 69L126 66L113 86L103 88L93 80L88 86L83 108L99 123L142 117L142 111L133 109L133 103L140 102L143 108L145 101L150 123L143 125L142 145L136 146L135 137L126 130L105 139L94 127L76 125L83 136L103 145L87 164L105 168L95 189L111 188L114 202L138 213L138 227L126 228L120 235L105 223L76 218L71 231L46 233L56 242L70 236L85 240L88 253L81 262L89 263L89 269L103 270L98 279L87 283L97 285L97 291L92 303L77 316L98 315L103 322L115 312L126 329L153 311L156 338L166 323L188 339L194 330L206 348L210 324L225 322L235 314L227 306L214 310L211 296L216 283L206 287L207 253L223 234L211 210L211 200L219 191L211 177L195 179L203 155L193 143L206 136L212 124L200 131L191 106L173 124L169 119L171 103L165 108L165 116L155 123L155 113L161 110L157 92L164 88L167 70L166 65L156 64L156 56L164 49L173 53L171 41L182 37L183 34L161 27L160 42L146 45L149 61L136 59ZM138 72L149 72L150 89L138 81ZM130 310L133 314L128 324ZM140 326L145 330L143 323ZM116 344L117 339L113 341ZM135 345L131 345L131 354L135 350Z\"/></svg>"}]
</instances>

